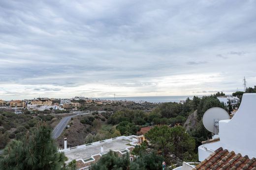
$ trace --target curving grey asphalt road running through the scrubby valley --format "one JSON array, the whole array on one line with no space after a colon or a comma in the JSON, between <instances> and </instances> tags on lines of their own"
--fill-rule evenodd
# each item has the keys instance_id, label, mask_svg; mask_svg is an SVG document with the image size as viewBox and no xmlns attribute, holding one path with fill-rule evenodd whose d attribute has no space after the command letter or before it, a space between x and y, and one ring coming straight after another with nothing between
<instances>
[{"instance_id":1,"label":"curving grey asphalt road running through the scrubby valley","mask_svg":"<svg viewBox=\"0 0 256 170\"><path fill-rule=\"evenodd\" d=\"M74 112L75 115L67 116L62 118L62 120L55 126L52 132L52 137L53 139L57 139L59 136L61 136L64 128L66 127L67 123L70 121L71 118L80 116L80 115L87 115L91 114L92 112L89 113L82 113L82 112Z\"/></svg>"}]
</instances>

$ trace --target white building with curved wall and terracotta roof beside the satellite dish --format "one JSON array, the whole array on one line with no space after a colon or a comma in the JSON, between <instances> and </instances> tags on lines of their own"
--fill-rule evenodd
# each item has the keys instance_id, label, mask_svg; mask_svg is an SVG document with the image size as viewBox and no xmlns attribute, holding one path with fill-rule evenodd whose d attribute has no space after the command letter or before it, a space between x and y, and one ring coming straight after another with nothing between
<instances>
[{"instance_id":1,"label":"white building with curved wall and terracotta roof beside the satellite dish","mask_svg":"<svg viewBox=\"0 0 256 170\"><path fill-rule=\"evenodd\" d=\"M197 166L174 170L256 170L256 94L244 94L231 120L219 121L219 135L198 147Z\"/></svg>"}]
</instances>

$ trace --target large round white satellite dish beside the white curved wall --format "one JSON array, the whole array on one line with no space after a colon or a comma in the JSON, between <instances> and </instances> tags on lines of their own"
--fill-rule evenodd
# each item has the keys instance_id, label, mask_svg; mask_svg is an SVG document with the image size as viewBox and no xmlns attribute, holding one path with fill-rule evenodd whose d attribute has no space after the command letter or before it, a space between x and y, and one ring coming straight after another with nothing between
<instances>
[{"instance_id":1,"label":"large round white satellite dish beside the white curved wall","mask_svg":"<svg viewBox=\"0 0 256 170\"><path fill-rule=\"evenodd\" d=\"M213 132L215 135L219 134L219 121L230 119L228 113L220 107L212 107L208 109L203 115L204 127Z\"/></svg>"}]
</instances>

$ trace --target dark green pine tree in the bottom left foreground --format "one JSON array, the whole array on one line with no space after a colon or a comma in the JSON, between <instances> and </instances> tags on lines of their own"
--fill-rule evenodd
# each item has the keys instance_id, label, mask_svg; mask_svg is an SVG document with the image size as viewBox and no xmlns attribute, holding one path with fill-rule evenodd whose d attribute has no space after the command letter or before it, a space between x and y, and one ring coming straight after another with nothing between
<instances>
[{"instance_id":1,"label":"dark green pine tree in the bottom left foreground","mask_svg":"<svg viewBox=\"0 0 256 170\"><path fill-rule=\"evenodd\" d=\"M21 140L13 140L6 146L0 159L0 169L61 170L65 159L51 138L51 128L43 123Z\"/></svg>"}]
</instances>

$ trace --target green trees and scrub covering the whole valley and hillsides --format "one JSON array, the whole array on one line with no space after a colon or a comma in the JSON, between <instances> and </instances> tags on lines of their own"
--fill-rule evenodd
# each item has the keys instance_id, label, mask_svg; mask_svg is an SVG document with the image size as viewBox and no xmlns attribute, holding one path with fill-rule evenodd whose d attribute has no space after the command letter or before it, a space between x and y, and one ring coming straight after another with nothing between
<instances>
[{"instance_id":1,"label":"green trees and scrub covering the whole valley and hillsides","mask_svg":"<svg viewBox=\"0 0 256 170\"><path fill-rule=\"evenodd\" d=\"M256 86L248 88L247 93L254 93L255 90ZM235 94L242 95L240 92ZM83 106L83 109L103 109L107 112L96 111L90 116L81 115L73 118L69 124L71 127L65 129L58 142L61 144L63 137L68 137L70 146L83 142L89 144L121 135L135 135L142 126L154 125L154 128L145 134L148 143L144 142L134 148L132 154L136 155L136 159L133 162L130 162L128 154L118 157L116 153L109 152L92 167L92 170L156 170L161 169L163 160L167 164L176 164L182 160L197 161L197 146L212 136L211 132L204 128L202 116L211 107L226 109L224 103L217 98L223 95L223 92L218 92L207 97L187 98L183 104L120 102ZM197 111L195 126L186 131L182 124L194 111ZM39 165L37 167L41 170L60 169L64 163L64 156L53 149L57 147L49 136L50 128L46 124L37 125L42 121L49 124L53 118L46 112L39 115L32 115L29 112L22 115L0 112L0 148L11 141L0 159L0 169L33 170L35 165ZM36 151L37 147L39 151ZM45 156L46 154L48 156ZM75 169L75 161L70 162L67 167L63 166L62 169Z\"/></svg>"}]
</instances>

